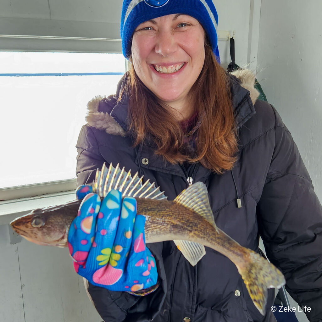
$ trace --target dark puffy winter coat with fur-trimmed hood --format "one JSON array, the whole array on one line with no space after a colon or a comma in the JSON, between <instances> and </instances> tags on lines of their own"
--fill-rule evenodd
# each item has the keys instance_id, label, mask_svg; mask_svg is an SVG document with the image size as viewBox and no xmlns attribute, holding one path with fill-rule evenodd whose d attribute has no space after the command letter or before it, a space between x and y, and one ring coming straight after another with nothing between
<instances>
[{"instance_id":1,"label":"dark puffy winter coat with fur-trimmed hood","mask_svg":"<svg viewBox=\"0 0 322 322\"><path fill-rule=\"evenodd\" d=\"M77 184L91 183L103 162L119 163L133 174L138 171L144 180L159 185L169 200L187 188L187 176L204 182L217 226L254 251L259 251L261 236L268 258L284 273L291 296L311 307L312 322L322 321L321 205L289 130L270 104L256 101L254 76L240 76L251 93L229 77L239 140L232 171L217 175L197 164L185 174L179 165L154 155L148 144L133 148L127 134L128 97L116 103L116 95L89 102L88 123L77 143ZM237 207L238 198L242 208ZM137 297L88 285L105 321L275 321L270 311L273 290L262 317L236 266L222 254L206 247L206 255L192 267L174 242L147 246L156 257L160 280L153 293Z\"/></svg>"}]
</instances>

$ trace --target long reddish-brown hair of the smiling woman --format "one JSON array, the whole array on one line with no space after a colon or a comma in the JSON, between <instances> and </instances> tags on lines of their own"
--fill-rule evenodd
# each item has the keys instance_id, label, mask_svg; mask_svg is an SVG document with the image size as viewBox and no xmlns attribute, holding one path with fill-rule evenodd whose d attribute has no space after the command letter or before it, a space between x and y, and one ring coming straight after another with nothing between
<instances>
[{"instance_id":1,"label":"long reddish-brown hair of the smiling woman","mask_svg":"<svg viewBox=\"0 0 322 322\"><path fill-rule=\"evenodd\" d=\"M199 161L216 173L232 168L237 139L230 87L226 72L216 61L207 40L203 69L190 90L200 122L194 156L183 152L185 133L170 113L171 108L147 89L133 64L120 97L124 91L130 93L129 131L134 135L134 146L152 137L155 153L172 164Z\"/></svg>"}]
</instances>

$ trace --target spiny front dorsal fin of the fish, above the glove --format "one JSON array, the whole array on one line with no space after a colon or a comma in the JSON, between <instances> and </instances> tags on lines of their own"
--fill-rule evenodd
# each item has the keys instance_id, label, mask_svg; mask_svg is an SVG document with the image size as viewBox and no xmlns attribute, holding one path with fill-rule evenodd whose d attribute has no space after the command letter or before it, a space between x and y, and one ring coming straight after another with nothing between
<instances>
[{"instance_id":1,"label":"spiny front dorsal fin of the fish, above the glove","mask_svg":"<svg viewBox=\"0 0 322 322\"><path fill-rule=\"evenodd\" d=\"M136 173L131 176L131 170L124 171L124 167L120 169L119 164L114 168L112 164L109 167L105 162L102 169L96 170L95 179L92 187L93 192L99 194L104 198L112 189L118 190L122 193L122 197L136 197L136 198L148 198L162 200L167 199L164 191L160 191L160 187L156 187L154 183L150 183L147 180L142 184L142 177L138 177Z\"/></svg>"}]
</instances>

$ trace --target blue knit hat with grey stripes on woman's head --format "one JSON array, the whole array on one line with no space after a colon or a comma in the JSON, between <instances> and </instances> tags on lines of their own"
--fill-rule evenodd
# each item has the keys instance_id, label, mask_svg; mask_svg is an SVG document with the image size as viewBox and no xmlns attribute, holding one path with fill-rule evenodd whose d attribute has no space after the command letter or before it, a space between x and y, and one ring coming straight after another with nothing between
<instances>
[{"instance_id":1,"label":"blue knit hat with grey stripes on woman's head","mask_svg":"<svg viewBox=\"0 0 322 322\"><path fill-rule=\"evenodd\" d=\"M219 61L218 14L212 0L124 0L121 17L124 57L129 58L131 54L132 35L139 24L168 14L187 14L197 19L204 27Z\"/></svg>"}]
</instances>

